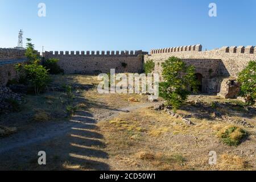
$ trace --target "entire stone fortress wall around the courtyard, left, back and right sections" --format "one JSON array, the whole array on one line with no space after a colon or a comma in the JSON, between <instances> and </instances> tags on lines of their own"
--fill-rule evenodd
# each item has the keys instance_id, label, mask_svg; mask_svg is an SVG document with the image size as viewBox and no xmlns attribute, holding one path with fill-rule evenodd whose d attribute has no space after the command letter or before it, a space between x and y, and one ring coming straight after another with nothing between
<instances>
[{"instance_id":1,"label":"entire stone fortress wall around the courtyard, left, back and right sections","mask_svg":"<svg viewBox=\"0 0 256 182\"><path fill-rule=\"evenodd\" d=\"M250 60L256 60L256 47L232 46L202 51L201 44L172 48L152 49L150 54L143 51L50 51L44 52L46 59L59 59L65 73L139 73L144 61L155 61L155 72L161 74L161 63L168 57L176 56L189 65L194 65L200 77L201 91L205 93L224 93L232 88L237 74ZM0 84L16 77L14 65L26 61L24 49L0 48ZM226 84L221 84L225 78ZM230 79L226 79L230 78ZM227 86L228 85L228 86Z\"/></svg>"}]
</instances>

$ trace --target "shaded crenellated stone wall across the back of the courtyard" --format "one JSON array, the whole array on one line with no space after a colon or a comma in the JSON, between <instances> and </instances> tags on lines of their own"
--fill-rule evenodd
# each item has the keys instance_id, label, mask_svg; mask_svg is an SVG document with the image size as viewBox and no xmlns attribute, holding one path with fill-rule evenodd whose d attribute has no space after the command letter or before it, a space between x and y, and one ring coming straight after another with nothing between
<instances>
[{"instance_id":1,"label":"shaded crenellated stone wall across the back of the courtyard","mask_svg":"<svg viewBox=\"0 0 256 182\"><path fill-rule=\"evenodd\" d=\"M121 54L120 54L121 53ZM59 59L58 64L65 73L108 73L110 69L115 72L141 72L143 60L140 55L147 54L143 51L53 51L45 52L46 59Z\"/></svg>"}]
</instances>

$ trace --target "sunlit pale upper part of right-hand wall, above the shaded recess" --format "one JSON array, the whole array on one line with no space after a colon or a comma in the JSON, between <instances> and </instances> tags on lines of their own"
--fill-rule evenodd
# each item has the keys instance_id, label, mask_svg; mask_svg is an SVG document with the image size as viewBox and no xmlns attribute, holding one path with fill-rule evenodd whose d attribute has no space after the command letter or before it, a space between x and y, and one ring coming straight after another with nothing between
<instances>
[{"instance_id":1,"label":"sunlit pale upper part of right-hand wall, above the shaded recess","mask_svg":"<svg viewBox=\"0 0 256 182\"><path fill-rule=\"evenodd\" d=\"M175 48L152 49L151 55L145 56L145 60L163 61L170 56L181 59L215 59L221 60L218 68L221 76L237 77L237 73L246 67L250 60L256 60L256 47L232 46L222 47L211 51L202 51L202 46L182 46ZM195 65L197 67L197 65Z\"/></svg>"}]
</instances>

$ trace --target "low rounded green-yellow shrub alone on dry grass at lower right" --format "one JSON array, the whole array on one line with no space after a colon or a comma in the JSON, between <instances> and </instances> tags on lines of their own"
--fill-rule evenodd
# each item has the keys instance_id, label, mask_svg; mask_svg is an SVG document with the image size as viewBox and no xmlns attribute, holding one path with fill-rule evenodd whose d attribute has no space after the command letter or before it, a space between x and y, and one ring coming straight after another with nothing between
<instances>
[{"instance_id":1,"label":"low rounded green-yellow shrub alone on dry grass at lower right","mask_svg":"<svg viewBox=\"0 0 256 182\"><path fill-rule=\"evenodd\" d=\"M245 130L236 126L225 127L217 133L217 137L228 146L238 146L238 144L241 143L241 140L247 137L247 135Z\"/></svg>"}]
</instances>

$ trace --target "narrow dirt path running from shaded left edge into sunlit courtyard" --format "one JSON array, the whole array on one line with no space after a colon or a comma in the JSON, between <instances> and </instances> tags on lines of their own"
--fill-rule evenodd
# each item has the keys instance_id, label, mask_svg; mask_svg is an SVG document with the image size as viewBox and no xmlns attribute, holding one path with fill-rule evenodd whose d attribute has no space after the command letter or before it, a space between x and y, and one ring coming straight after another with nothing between
<instances>
[{"instance_id":1,"label":"narrow dirt path running from shaded left edge into sunlit courtyard","mask_svg":"<svg viewBox=\"0 0 256 182\"><path fill-rule=\"evenodd\" d=\"M0 154L15 150L19 147L26 147L30 144L38 144L40 142L46 142L55 137L61 137L67 134L74 127L81 127L85 123L92 124L100 121L101 119L106 119L114 117L121 112L129 112L141 107L147 107L154 105L156 103L142 103L134 106L123 107L117 110L110 110L108 112L94 115L93 113L88 113L87 111L77 111L77 114L74 115L69 122L57 122L57 123L42 123L36 125L34 129L23 131L14 135L11 135L8 138L0 139Z\"/></svg>"}]
</instances>

